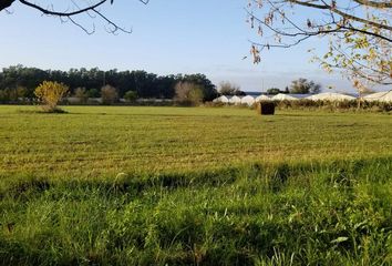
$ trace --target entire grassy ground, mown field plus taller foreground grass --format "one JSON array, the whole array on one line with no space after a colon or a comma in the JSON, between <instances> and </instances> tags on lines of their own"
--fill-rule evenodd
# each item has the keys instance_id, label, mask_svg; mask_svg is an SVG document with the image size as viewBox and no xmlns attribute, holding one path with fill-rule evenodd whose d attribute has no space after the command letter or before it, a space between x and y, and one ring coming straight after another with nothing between
<instances>
[{"instance_id":1,"label":"entire grassy ground, mown field plus taller foreground grass","mask_svg":"<svg viewBox=\"0 0 392 266\"><path fill-rule=\"evenodd\" d=\"M392 116L0 106L0 264L391 265Z\"/></svg>"}]
</instances>

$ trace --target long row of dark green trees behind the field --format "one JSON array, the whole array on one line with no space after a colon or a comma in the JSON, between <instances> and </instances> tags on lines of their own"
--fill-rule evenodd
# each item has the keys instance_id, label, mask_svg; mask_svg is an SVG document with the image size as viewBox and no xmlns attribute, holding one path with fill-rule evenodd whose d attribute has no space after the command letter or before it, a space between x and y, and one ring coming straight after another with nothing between
<instances>
[{"instance_id":1,"label":"long row of dark green trees behind the field","mask_svg":"<svg viewBox=\"0 0 392 266\"><path fill-rule=\"evenodd\" d=\"M69 94L74 95L83 89L87 96L100 98L101 88L115 88L120 98L132 92L144 99L173 99L176 95L176 84L192 83L203 91L203 101L212 101L217 96L216 86L205 74L171 74L157 75L144 70L104 71L93 69L42 70L12 65L0 72L0 102L17 102L21 99L33 99L34 90L43 81L55 81L69 86Z\"/></svg>"}]
</instances>

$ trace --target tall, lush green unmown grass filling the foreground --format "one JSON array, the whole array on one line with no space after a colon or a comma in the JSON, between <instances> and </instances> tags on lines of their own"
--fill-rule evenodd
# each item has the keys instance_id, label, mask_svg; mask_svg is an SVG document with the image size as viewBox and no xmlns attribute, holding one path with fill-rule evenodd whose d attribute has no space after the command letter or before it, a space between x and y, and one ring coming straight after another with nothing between
<instances>
[{"instance_id":1,"label":"tall, lush green unmown grass filling the foreground","mask_svg":"<svg viewBox=\"0 0 392 266\"><path fill-rule=\"evenodd\" d=\"M0 192L3 265L390 265L392 157L249 164Z\"/></svg>"}]
</instances>

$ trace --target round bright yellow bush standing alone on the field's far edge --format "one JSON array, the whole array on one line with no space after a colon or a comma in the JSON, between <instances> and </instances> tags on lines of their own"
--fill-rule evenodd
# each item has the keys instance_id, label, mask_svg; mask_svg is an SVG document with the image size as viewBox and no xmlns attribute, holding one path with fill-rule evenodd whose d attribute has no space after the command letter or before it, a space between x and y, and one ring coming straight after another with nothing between
<instances>
[{"instance_id":1,"label":"round bright yellow bush standing alone on the field's far edge","mask_svg":"<svg viewBox=\"0 0 392 266\"><path fill-rule=\"evenodd\" d=\"M43 103L45 112L56 112L58 103L66 94L69 88L55 81L44 81L35 89L35 96Z\"/></svg>"}]
</instances>

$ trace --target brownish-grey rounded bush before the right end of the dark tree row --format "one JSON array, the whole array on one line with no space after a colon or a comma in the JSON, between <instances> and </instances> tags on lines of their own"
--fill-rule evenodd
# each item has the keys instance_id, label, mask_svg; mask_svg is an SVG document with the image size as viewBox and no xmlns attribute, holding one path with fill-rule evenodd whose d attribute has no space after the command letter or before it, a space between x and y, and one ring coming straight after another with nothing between
<instances>
[{"instance_id":1,"label":"brownish-grey rounded bush before the right end of the dark tree row","mask_svg":"<svg viewBox=\"0 0 392 266\"><path fill-rule=\"evenodd\" d=\"M183 105L197 105L204 99L203 86L190 82L178 82L175 101Z\"/></svg>"}]
</instances>

